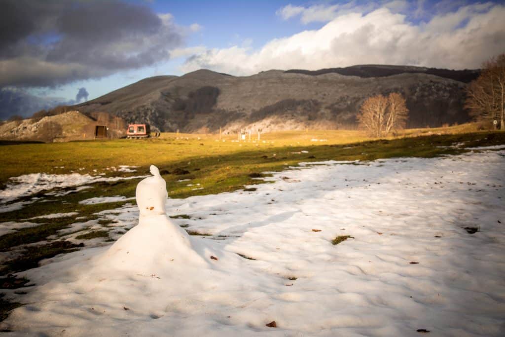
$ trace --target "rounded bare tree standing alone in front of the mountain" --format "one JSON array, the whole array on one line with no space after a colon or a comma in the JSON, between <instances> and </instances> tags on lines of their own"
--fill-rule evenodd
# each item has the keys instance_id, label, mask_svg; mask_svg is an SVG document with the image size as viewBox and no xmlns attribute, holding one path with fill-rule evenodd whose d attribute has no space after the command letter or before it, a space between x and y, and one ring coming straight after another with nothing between
<instances>
[{"instance_id":1,"label":"rounded bare tree standing alone in front of the mountain","mask_svg":"<svg viewBox=\"0 0 505 337\"><path fill-rule=\"evenodd\" d=\"M387 135L391 130L405 127L409 109L401 94L392 92L388 97L376 95L368 98L358 114L360 127L370 131L374 137Z\"/></svg>"}]
</instances>

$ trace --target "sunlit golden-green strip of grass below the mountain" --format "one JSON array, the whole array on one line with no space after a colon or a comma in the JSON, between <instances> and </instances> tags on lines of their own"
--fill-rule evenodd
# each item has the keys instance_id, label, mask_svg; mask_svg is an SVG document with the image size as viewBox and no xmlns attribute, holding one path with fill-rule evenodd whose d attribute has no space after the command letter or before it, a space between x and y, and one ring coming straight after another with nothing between
<instances>
[{"instance_id":1,"label":"sunlit golden-green strip of grass below the mountain","mask_svg":"<svg viewBox=\"0 0 505 337\"><path fill-rule=\"evenodd\" d=\"M447 128L408 129L392 140L437 134L477 132L477 124ZM107 167L133 165L147 168L206 166L208 159L233 158L241 153L256 152L271 156L272 151L295 152L297 148L318 148L370 141L364 131L282 131L252 135L251 140L237 141L237 135L162 133L160 138L75 141L66 143L26 143L0 146L0 184L10 177L27 173L67 174L72 171L94 174ZM372 139L373 140L373 139ZM285 156L283 156L285 157ZM288 156L290 157L290 156ZM296 156L291 156L296 157ZM299 156L298 156L299 157ZM292 158L288 158L292 159ZM320 158L323 159L323 158ZM190 163L190 164L188 164ZM94 171L96 170L96 171ZM107 172L106 172L107 173Z\"/></svg>"}]
</instances>

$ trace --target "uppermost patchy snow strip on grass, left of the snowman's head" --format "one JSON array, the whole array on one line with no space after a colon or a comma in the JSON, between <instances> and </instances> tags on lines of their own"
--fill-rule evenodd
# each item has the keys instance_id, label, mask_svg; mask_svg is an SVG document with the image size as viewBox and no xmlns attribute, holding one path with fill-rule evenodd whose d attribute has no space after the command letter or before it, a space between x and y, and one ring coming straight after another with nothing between
<instances>
[{"instance_id":1,"label":"uppermost patchy snow strip on grass, left of the snowman's head","mask_svg":"<svg viewBox=\"0 0 505 337\"><path fill-rule=\"evenodd\" d=\"M99 175L89 174L47 174L47 173L31 173L24 174L18 177L10 178L4 190L0 190L0 203L8 203L20 197L31 196L39 191L65 188L71 186L79 186L99 181L117 181L144 178L146 175L131 176L131 177L102 177ZM82 186L83 188L85 186ZM83 189L81 188L81 189ZM58 195L55 194L55 195ZM61 194L65 195L65 194ZM1 204L0 204L1 205ZM4 207L4 206L2 206Z\"/></svg>"}]
</instances>

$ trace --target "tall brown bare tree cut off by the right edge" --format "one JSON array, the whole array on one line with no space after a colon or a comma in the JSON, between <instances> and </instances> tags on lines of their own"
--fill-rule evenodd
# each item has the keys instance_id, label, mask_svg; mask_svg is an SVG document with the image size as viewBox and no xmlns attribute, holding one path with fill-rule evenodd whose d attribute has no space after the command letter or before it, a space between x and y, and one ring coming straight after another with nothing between
<instances>
[{"instance_id":1,"label":"tall brown bare tree cut off by the right edge","mask_svg":"<svg viewBox=\"0 0 505 337\"><path fill-rule=\"evenodd\" d=\"M505 130L505 54L491 58L482 68L467 87L465 108L478 121L498 120Z\"/></svg>"}]
</instances>

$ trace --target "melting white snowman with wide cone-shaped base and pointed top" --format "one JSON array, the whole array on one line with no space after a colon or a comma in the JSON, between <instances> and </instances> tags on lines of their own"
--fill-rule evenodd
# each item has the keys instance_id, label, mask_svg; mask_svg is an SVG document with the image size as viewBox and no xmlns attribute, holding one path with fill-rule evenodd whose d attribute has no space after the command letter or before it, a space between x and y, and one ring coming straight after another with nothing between
<instances>
[{"instance_id":1,"label":"melting white snowman with wide cone-shaped base and pointed top","mask_svg":"<svg viewBox=\"0 0 505 337\"><path fill-rule=\"evenodd\" d=\"M160 171L154 165L149 170L153 176L140 181L135 191L139 208L138 225L117 240L101 257L100 264L146 274L155 273L165 266L205 264L195 248L207 250L199 243L192 245L186 231L174 224L165 213L167 183ZM208 253L205 252L205 255Z\"/></svg>"}]
</instances>

